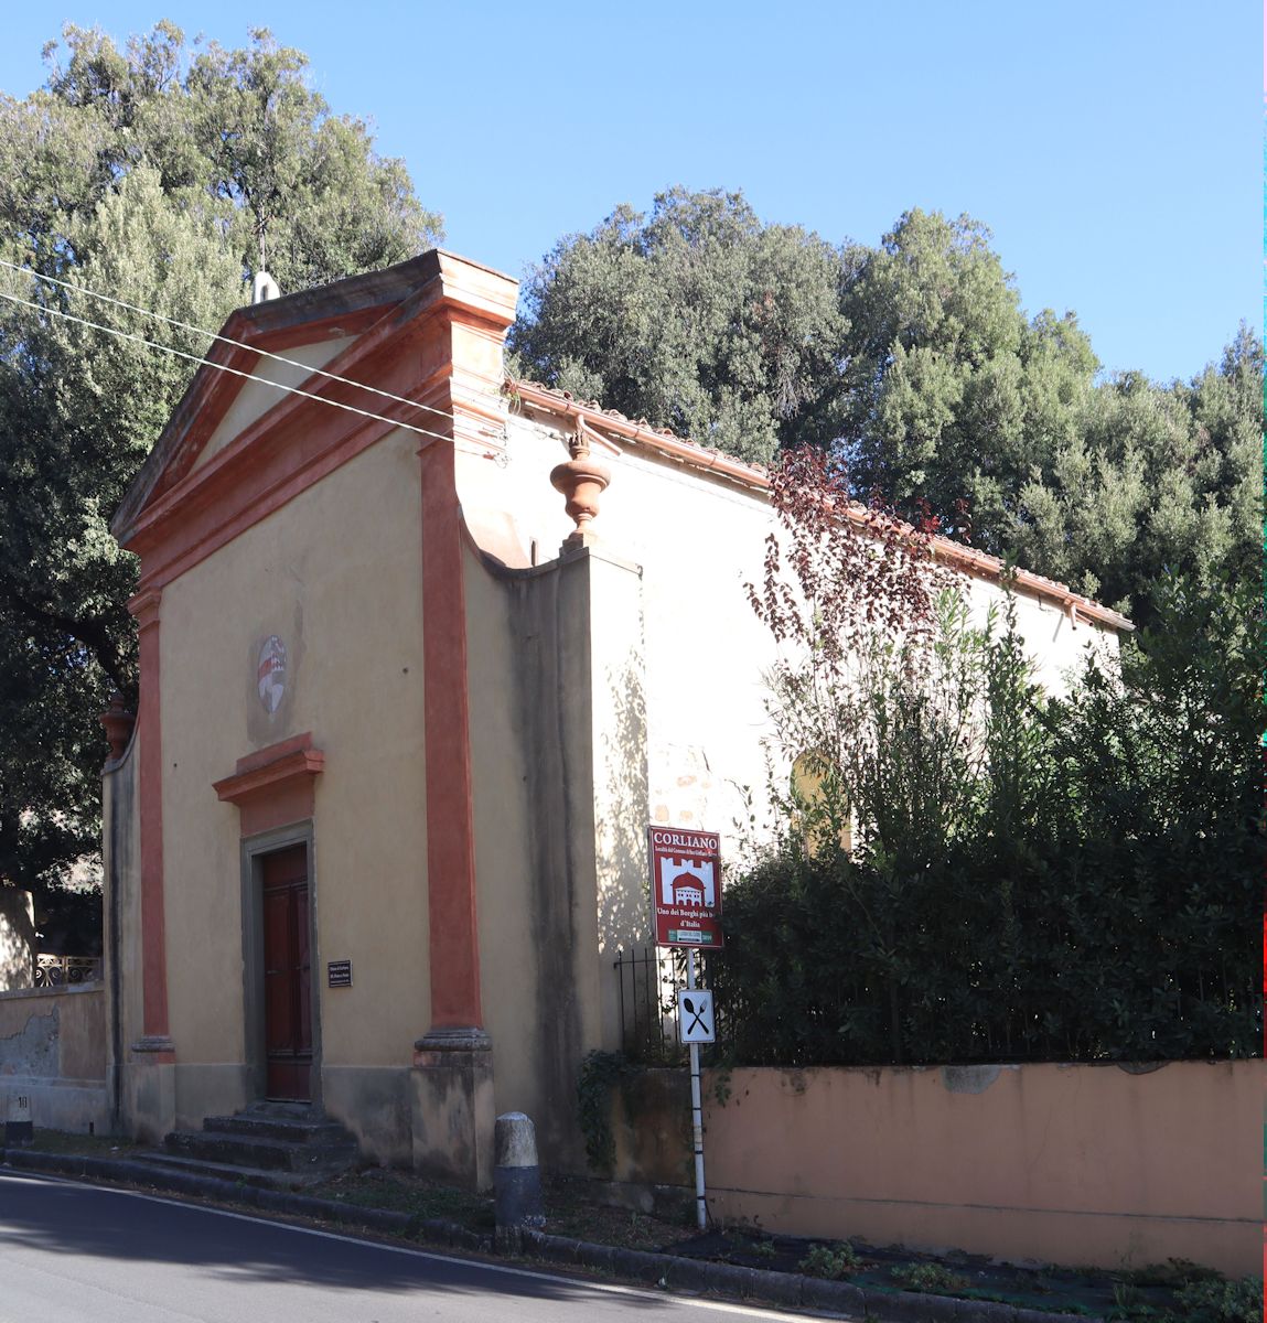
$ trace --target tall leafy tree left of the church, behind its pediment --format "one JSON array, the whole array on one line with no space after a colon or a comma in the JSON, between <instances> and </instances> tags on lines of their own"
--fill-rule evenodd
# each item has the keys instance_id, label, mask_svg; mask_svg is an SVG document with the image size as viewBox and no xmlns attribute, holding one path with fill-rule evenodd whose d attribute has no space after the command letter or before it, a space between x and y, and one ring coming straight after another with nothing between
<instances>
[{"instance_id":1,"label":"tall leafy tree left of the church, behind its pediment","mask_svg":"<svg viewBox=\"0 0 1267 1323\"><path fill-rule=\"evenodd\" d=\"M126 50L67 28L45 87L0 97L0 290L189 353L261 254L284 291L414 255L439 220L365 126L332 115L266 32ZM106 521L194 365L0 304L0 880L40 886L97 845L110 689L135 683L135 582Z\"/></svg>"}]
</instances>

